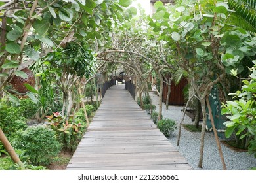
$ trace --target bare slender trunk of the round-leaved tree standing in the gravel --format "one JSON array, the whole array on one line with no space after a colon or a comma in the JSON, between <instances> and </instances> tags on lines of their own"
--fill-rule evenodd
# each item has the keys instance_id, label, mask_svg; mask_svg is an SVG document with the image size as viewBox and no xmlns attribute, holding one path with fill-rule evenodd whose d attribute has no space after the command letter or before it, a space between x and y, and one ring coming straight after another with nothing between
<instances>
[{"instance_id":1,"label":"bare slender trunk of the round-leaved tree standing in the gravel","mask_svg":"<svg viewBox=\"0 0 256 183\"><path fill-rule=\"evenodd\" d=\"M204 138L205 138L205 127L206 127L206 107L205 107L205 98L200 99L201 107L202 107L202 114L203 114L203 124L201 130L201 138L200 138L200 156L199 156L199 163L198 167L203 168L203 148L204 148Z\"/></svg>"}]
</instances>

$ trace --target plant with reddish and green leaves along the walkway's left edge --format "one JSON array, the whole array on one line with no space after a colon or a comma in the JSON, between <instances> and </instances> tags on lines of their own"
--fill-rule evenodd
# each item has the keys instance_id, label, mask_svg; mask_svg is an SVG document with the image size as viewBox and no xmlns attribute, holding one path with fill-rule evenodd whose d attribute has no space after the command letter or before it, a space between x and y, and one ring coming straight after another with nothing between
<instances>
[{"instance_id":1,"label":"plant with reddish and green leaves along the walkway's left edge","mask_svg":"<svg viewBox=\"0 0 256 183\"><path fill-rule=\"evenodd\" d=\"M76 118L69 116L66 120L66 117L55 112L51 116L47 116L47 120L55 132L58 142L62 144L62 148L74 151L85 132L85 121L81 120L81 116L77 115Z\"/></svg>"}]
</instances>

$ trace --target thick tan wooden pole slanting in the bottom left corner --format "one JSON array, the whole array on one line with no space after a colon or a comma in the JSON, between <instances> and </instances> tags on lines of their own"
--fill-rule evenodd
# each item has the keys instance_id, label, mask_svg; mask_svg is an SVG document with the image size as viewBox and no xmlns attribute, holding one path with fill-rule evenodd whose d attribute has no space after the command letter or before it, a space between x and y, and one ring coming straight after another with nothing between
<instances>
[{"instance_id":1,"label":"thick tan wooden pole slanting in the bottom left corner","mask_svg":"<svg viewBox=\"0 0 256 183\"><path fill-rule=\"evenodd\" d=\"M18 163L18 165L22 165L22 161L20 161L20 158L18 158L18 155L16 154L15 150L12 148L7 137L5 137L5 133L3 133L1 128L0 128L0 141L2 142L3 146L7 150L9 156L12 158L12 161L14 161L14 163Z\"/></svg>"}]
</instances>

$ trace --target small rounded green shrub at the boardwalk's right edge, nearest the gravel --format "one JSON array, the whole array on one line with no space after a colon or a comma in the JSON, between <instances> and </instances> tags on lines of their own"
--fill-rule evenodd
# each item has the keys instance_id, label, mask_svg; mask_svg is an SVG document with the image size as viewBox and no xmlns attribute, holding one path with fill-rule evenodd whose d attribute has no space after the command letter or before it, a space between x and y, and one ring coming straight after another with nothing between
<instances>
[{"instance_id":1,"label":"small rounded green shrub at the boardwalk's right edge, nearest the gravel","mask_svg":"<svg viewBox=\"0 0 256 183\"><path fill-rule=\"evenodd\" d=\"M158 129L165 135L165 137L169 137L171 135L171 132L175 131L177 129L177 126L175 124L175 121L172 119L164 119L158 121Z\"/></svg>"}]
</instances>

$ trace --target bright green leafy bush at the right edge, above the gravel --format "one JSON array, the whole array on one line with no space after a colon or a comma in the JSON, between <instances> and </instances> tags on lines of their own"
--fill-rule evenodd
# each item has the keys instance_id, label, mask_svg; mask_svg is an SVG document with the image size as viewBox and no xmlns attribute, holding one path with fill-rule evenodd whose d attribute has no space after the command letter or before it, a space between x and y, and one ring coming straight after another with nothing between
<instances>
[{"instance_id":1,"label":"bright green leafy bush at the right edge, above the gravel","mask_svg":"<svg viewBox=\"0 0 256 183\"><path fill-rule=\"evenodd\" d=\"M243 80L242 91L238 90L234 95L237 100L223 103L221 113L226 114L229 121L225 122L226 137L235 133L238 145L248 148L256 158L256 61L251 68L249 80Z\"/></svg>"}]
</instances>

